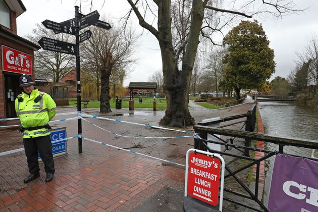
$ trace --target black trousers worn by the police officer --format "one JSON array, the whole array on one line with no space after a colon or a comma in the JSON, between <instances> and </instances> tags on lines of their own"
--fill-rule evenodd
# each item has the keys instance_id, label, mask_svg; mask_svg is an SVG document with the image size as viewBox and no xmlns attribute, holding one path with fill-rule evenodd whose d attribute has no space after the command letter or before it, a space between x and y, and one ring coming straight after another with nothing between
<instances>
[{"instance_id":1,"label":"black trousers worn by the police officer","mask_svg":"<svg viewBox=\"0 0 318 212\"><path fill-rule=\"evenodd\" d=\"M52 155L52 143L49 135L36 138L23 138L25 155L27 156L29 172L39 173L38 152L44 163L46 173L54 173L54 160Z\"/></svg>"}]
</instances>

